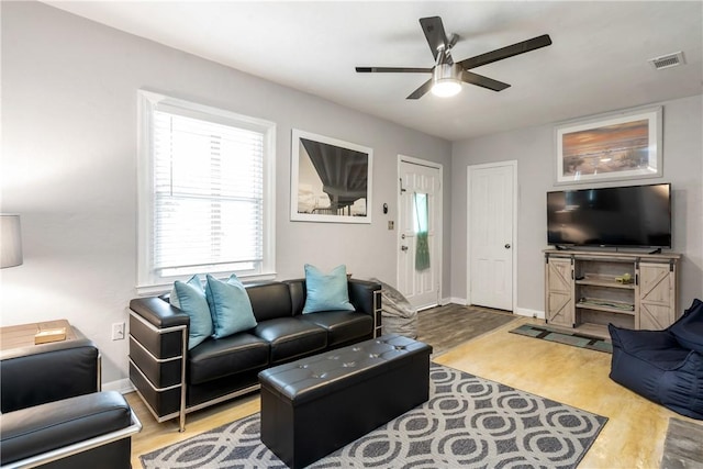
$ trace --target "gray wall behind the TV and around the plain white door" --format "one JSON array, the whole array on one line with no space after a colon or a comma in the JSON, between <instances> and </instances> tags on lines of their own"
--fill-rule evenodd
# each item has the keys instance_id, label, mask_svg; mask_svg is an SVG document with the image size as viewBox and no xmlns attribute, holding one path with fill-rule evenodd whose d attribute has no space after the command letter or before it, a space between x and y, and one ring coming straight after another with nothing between
<instances>
[{"instance_id":1,"label":"gray wall behind the TV and around the plain white door","mask_svg":"<svg viewBox=\"0 0 703 469\"><path fill-rule=\"evenodd\" d=\"M645 104L645 103L643 103ZM679 301L688 308L703 291L703 97L663 107L663 177L593 187L671 182L673 247L682 253ZM517 160L517 309L544 313L544 257L547 247L546 192L585 185L558 186L555 179L554 126L521 129L457 142L451 171L451 293L467 295L467 166Z\"/></svg>"}]
</instances>

